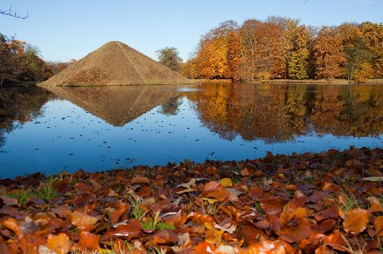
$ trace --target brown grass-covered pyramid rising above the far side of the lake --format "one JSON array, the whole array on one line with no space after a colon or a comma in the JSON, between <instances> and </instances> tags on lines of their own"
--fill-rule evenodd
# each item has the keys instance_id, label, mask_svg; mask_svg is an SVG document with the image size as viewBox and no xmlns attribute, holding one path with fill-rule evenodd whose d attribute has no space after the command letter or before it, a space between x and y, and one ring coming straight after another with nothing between
<instances>
[{"instance_id":1,"label":"brown grass-covered pyramid rising above the far side of the lake","mask_svg":"<svg viewBox=\"0 0 383 254\"><path fill-rule=\"evenodd\" d=\"M181 74L157 63L122 42L108 42L73 63L44 86L118 86L190 84Z\"/></svg>"}]
</instances>

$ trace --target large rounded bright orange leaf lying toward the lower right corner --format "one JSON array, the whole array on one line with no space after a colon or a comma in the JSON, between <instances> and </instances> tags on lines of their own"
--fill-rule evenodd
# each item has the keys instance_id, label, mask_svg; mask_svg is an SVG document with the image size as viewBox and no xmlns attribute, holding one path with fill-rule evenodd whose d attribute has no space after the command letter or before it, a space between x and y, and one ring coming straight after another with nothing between
<instances>
[{"instance_id":1,"label":"large rounded bright orange leaf lying toward the lower right corner","mask_svg":"<svg viewBox=\"0 0 383 254\"><path fill-rule=\"evenodd\" d=\"M368 225L368 212L365 209L357 208L345 213L343 229L345 232L359 234Z\"/></svg>"}]
</instances>

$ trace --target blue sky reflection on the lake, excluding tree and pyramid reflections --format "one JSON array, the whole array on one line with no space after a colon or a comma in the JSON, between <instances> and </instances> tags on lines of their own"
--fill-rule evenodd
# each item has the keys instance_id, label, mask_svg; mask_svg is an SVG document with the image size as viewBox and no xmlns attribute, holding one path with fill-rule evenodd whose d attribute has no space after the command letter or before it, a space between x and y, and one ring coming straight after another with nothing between
<instances>
[{"instance_id":1,"label":"blue sky reflection on the lake, excluding tree and pyramid reflections","mask_svg":"<svg viewBox=\"0 0 383 254\"><path fill-rule=\"evenodd\" d=\"M248 141L240 134L229 140L206 127L196 102L184 93L178 97L175 115L160 113L159 105L123 126L113 126L68 100L50 100L43 106L42 116L5 134L5 145L0 147L0 177L153 166L185 159L254 159L264 157L267 151L291 154L343 150L350 145L383 146L382 135L355 138L318 135L313 130L280 142Z\"/></svg>"}]
</instances>

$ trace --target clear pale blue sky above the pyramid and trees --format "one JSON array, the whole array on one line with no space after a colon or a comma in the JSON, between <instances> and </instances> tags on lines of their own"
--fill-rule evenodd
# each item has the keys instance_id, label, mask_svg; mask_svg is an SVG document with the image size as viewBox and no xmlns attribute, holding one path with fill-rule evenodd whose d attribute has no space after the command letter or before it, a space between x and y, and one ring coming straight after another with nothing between
<instances>
[{"instance_id":1,"label":"clear pale blue sky above the pyramid and trees","mask_svg":"<svg viewBox=\"0 0 383 254\"><path fill-rule=\"evenodd\" d=\"M49 61L79 59L110 40L156 57L176 47L186 60L200 36L219 22L294 17L321 26L343 22L383 22L383 0L0 0L28 19L0 15L0 33L40 47Z\"/></svg>"}]
</instances>

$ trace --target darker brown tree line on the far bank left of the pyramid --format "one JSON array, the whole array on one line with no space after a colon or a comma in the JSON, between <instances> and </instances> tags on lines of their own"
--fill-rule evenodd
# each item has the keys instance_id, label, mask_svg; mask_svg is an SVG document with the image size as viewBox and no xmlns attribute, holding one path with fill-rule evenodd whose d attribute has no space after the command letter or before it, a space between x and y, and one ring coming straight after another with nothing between
<instances>
[{"instance_id":1,"label":"darker brown tree line on the far bank left of the pyramid","mask_svg":"<svg viewBox=\"0 0 383 254\"><path fill-rule=\"evenodd\" d=\"M0 85L6 82L46 80L67 68L73 61L44 61L38 47L0 33Z\"/></svg>"}]
</instances>

